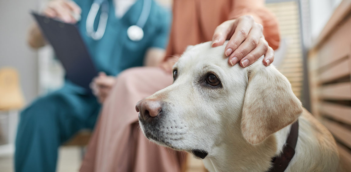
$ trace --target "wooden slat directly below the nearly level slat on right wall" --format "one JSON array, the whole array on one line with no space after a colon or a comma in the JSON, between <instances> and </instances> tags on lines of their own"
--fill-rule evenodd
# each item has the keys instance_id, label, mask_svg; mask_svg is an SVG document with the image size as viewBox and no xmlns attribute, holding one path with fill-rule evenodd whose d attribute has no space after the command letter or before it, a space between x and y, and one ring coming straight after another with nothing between
<instances>
[{"instance_id":1,"label":"wooden slat directly below the nearly level slat on right wall","mask_svg":"<svg viewBox=\"0 0 351 172\"><path fill-rule=\"evenodd\" d=\"M325 116L332 117L337 121L351 125L351 107L335 103L319 103L319 111Z\"/></svg>"}]
</instances>

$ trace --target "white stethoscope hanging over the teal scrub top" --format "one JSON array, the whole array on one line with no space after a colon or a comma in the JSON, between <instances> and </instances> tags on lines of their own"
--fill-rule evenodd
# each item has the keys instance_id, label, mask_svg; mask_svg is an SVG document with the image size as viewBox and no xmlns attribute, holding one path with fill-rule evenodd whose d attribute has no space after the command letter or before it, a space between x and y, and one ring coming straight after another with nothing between
<instances>
[{"instance_id":1,"label":"white stethoscope hanging over the teal scrub top","mask_svg":"<svg viewBox=\"0 0 351 172\"><path fill-rule=\"evenodd\" d=\"M94 22L95 18L98 14L98 11L101 6L101 14L100 20L98 24L98 28L96 31L94 30ZM105 34L106 25L107 25L107 18L108 18L108 8L109 4L107 0L94 0L93 5L90 8L90 11L87 16L86 21L86 30L88 36L90 36L94 40L100 40L102 36ZM139 16L139 19L135 25L128 27L127 29L127 36L132 41L140 41L144 37L143 28L147 21L147 18L150 15L151 11L151 0L144 0L143 2L143 9Z\"/></svg>"}]
</instances>

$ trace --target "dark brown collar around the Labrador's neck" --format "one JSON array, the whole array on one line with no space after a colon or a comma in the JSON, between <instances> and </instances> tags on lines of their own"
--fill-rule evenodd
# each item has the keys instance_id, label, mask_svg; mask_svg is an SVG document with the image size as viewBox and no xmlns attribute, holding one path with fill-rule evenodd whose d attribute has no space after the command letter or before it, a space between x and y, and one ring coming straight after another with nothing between
<instances>
[{"instance_id":1,"label":"dark brown collar around the Labrador's neck","mask_svg":"<svg viewBox=\"0 0 351 172\"><path fill-rule=\"evenodd\" d=\"M278 157L272 158L273 166L267 172L284 172L286 167L289 165L292 157L295 154L295 147L297 138L299 136L299 122L295 121L291 125L289 136L286 139L286 144L283 148L283 153Z\"/></svg>"}]
</instances>

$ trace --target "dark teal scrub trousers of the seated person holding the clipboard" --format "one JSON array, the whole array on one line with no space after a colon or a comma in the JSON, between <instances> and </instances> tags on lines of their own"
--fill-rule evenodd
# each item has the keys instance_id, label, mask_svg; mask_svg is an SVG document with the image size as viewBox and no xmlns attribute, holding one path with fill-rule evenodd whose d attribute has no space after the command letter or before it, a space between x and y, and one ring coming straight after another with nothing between
<instances>
[{"instance_id":1,"label":"dark teal scrub trousers of the seated person holding the clipboard","mask_svg":"<svg viewBox=\"0 0 351 172\"><path fill-rule=\"evenodd\" d=\"M54 172L59 146L80 129L93 129L99 109L93 95L65 87L34 101L20 115L16 172Z\"/></svg>"}]
</instances>

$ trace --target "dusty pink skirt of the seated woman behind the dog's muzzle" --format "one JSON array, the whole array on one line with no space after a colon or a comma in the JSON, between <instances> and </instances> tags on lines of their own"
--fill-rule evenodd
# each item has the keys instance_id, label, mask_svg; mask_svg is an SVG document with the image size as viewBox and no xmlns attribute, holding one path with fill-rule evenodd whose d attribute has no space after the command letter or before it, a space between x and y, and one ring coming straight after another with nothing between
<instances>
[{"instance_id":1,"label":"dusty pink skirt of the seated woman behind the dog's muzzle","mask_svg":"<svg viewBox=\"0 0 351 172\"><path fill-rule=\"evenodd\" d=\"M80 172L179 172L186 154L156 145L140 131L135 104L172 84L160 68L123 71L105 100Z\"/></svg>"}]
</instances>

